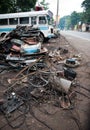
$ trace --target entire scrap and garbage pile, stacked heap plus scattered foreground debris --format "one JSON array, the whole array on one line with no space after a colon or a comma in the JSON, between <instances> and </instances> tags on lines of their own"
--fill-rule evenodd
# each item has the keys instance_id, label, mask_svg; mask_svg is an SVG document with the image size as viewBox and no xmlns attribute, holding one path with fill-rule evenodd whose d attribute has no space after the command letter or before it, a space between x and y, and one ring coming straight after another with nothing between
<instances>
[{"instance_id":1,"label":"entire scrap and garbage pile, stacked heap plus scattered foreground debris","mask_svg":"<svg viewBox=\"0 0 90 130\"><path fill-rule=\"evenodd\" d=\"M52 102L64 110L74 108L76 86L73 83L77 73L72 67L77 67L76 59L64 60L62 54L68 53L64 48L47 54L38 37L38 29L17 26L0 41L0 64L10 66L10 70L11 67L16 69L6 72L4 69L0 74L1 83L6 87L3 100L0 100L0 111L14 129L25 122L28 112L35 117L33 106L38 104ZM60 61L63 61L62 71L55 68L55 63Z\"/></svg>"}]
</instances>

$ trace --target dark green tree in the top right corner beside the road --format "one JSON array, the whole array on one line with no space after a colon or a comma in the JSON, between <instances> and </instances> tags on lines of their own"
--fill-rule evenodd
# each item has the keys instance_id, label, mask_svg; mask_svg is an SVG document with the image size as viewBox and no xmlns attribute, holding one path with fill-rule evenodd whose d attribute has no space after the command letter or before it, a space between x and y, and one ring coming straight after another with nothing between
<instances>
[{"instance_id":1,"label":"dark green tree in the top right corner beside the road","mask_svg":"<svg viewBox=\"0 0 90 130\"><path fill-rule=\"evenodd\" d=\"M90 0L84 0L82 3L82 7L84 8L83 12L84 22L90 22Z\"/></svg>"}]
</instances>

